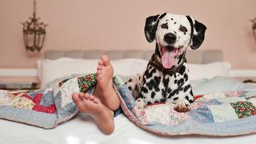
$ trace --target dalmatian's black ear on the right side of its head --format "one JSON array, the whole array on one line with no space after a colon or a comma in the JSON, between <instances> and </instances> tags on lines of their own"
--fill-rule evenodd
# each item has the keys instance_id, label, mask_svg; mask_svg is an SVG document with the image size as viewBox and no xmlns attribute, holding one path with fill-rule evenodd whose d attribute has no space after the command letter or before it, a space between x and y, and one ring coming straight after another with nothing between
<instances>
[{"instance_id":1,"label":"dalmatian's black ear on the right side of its head","mask_svg":"<svg viewBox=\"0 0 256 144\"><path fill-rule=\"evenodd\" d=\"M192 27L190 47L195 50L202 45L202 42L205 39L206 26L196 20L193 20L190 16L186 16L186 18L188 18Z\"/></svg>"}]
</instances>

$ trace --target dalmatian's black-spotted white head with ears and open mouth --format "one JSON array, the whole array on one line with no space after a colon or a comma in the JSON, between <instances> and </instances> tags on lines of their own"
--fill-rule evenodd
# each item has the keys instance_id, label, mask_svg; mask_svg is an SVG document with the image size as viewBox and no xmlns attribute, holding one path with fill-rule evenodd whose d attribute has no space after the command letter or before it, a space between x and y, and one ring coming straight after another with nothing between
<instances>
[{"instance_id":1,"label":"dalmatian's black-spotted white head with ears and open mouth","mask_svg":"<svg viewBox=\"0 0 256 144\"><path fill-rule=\"evenodd\" d=\"M161 14L146 18L145 35L148 42L156 40L155 53L166 69L178 65L187 47L201 46L206 26L190 16Z\"/></svg>"}]
</instances>

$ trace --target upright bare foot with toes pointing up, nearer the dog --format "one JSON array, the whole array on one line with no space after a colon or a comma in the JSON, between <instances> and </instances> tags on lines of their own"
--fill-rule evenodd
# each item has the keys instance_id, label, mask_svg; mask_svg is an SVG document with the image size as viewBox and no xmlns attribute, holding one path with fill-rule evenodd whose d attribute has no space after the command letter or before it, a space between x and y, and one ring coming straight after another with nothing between
<instances>
[{"instance_id":1,"label":"upright bare foot with toes pointing up, nearer the dog","mask_svg":"<svg viewBox=\"0 0 256 144\"><path fill-rule=\"evenodd\" d=\"M117 110L120 106L118 94L113 88L113 66L110 64L110 58L106 55L98 61L96 72L97 85L94 90L94 95L101 99L102 103L110 108L110 110Z\"/></svg>"}]
</instances>

